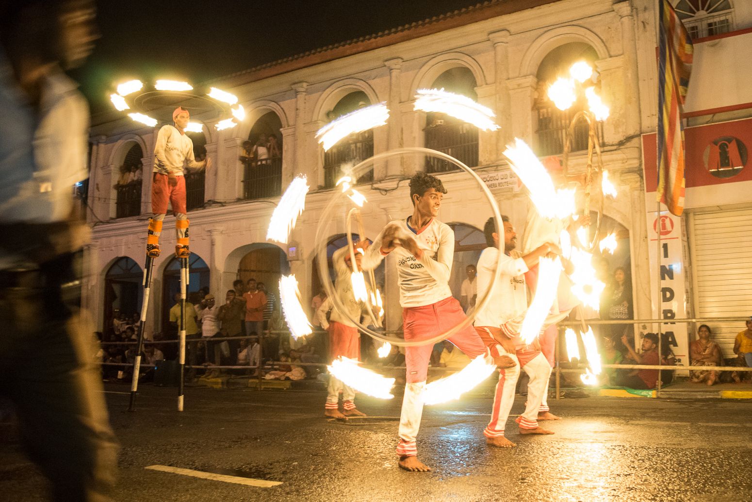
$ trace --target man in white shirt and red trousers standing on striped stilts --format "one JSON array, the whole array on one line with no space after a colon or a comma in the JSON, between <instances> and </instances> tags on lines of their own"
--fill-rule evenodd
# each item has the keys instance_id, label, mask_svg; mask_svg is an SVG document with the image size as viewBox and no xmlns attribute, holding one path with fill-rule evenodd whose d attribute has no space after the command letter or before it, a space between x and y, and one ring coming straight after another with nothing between
<instances>
[{"instance_id":1,"label":"man in white shirt and red trousers standing on striped stilts","mask_svg":"<svg viewBox=\"0 0 752 502\"><path fill-rule=\"evenodd\" d=\"M154 170L151 184L151 211L146 252L150 257L159 256L159 235L162 222L167 214L168 202L172 203L175 214L177 245L175 256L186 258L188 248L188 214L186 209L186 181L184 169L187 167L205 169L211 167L211 160L206 157L196 162L193 157L193 141L186 135L185 129L190 121L190 114L178 106L172 112L174 126L165 125L159 129L154 145Z\"/></svg>"}]
</instances>

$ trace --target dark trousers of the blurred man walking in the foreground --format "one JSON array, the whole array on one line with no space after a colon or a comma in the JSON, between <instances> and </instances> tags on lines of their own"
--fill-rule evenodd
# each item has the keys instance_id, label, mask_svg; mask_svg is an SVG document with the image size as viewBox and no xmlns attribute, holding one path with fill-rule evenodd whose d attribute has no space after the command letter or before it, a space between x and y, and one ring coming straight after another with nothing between
<instances>
[{"instance_id":1,"label":"dark trousers of the blurred man walking in the foreground","mask_svg":"<svg viewBox=\"0 0 752 502\"><path fill-rule=\"evenodd\" d=\"M52 315L45 300L42 289L0 289L0 395L15 403L26 451L54 500L110 500L117 443L93 327L80 315Z\"/></svg>"}]
</instances>

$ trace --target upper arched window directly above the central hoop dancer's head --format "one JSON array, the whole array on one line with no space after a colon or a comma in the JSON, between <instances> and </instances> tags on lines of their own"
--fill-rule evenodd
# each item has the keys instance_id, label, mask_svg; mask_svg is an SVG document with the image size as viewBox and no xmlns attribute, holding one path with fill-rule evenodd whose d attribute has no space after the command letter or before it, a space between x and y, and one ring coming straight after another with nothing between
<instances>
[{"instance_id":1,"label":"upper arched window directly above the central hoop dancer's head","mask_svg":"<svg viewBox=\"0 0 752 502\"><path fill-rule=\"evenodd\" d=\"M431 84L433 89L444 89L450 93L462 94L474 100L475 77L472 71L464 66L458 66L444 71ZM478 166L478 128L464 123L445 114L426 114L425 134L426 148L432 148L449 154L470 167ZM457 169L446 160L426 158L426 172L444 172Z\"/></svg>"}]
</instances>

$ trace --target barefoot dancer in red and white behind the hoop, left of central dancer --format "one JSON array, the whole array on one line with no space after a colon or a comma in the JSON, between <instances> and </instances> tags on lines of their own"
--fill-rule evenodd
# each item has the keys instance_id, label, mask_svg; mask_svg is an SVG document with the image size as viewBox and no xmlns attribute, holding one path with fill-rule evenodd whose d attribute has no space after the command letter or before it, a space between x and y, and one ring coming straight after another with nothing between
<instances>
[{"instance_id":1,"label":"barefoot dancer in red and white behind the hoop, left of central dancer","mask_svg":"<svg viewBox=\"0 0 752 502\"><path fill-rule=\"evenodd\" d=\"M353 254L355 254L356 268L360 269L362 252L360 249L368 249L368 241L356 242ZM327 297L316 312L317 321L321 327L329 331L329 358L347 357L358 360L360 358L360 333L350 318L360 321L363 304L356 300L353 294L353 262L350 256L350 246L345 245L332 254L337 277L334 288L337 297L344 305L347 312L339 312L334 309L332 297ZM326 321L326 313L332 311L329 321ZM324 415L331 418L347 418L350 416L365 416L365 413L355 407L355 391L349 385L344 385L334 375L329 375L329 389L324 405ZM342 411L339 410L339 394L342 393Z\"/></svg>"}]
</instances>

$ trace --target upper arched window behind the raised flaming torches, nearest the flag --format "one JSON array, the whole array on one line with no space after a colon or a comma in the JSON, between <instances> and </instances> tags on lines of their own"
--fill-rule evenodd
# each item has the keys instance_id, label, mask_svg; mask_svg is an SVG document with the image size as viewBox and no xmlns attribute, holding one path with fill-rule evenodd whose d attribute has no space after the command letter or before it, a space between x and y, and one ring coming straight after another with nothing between
<instances>
[{"instance_id":1,"label":"upper arched window behind the raised flaming torches, nearest the flag","mask_svg":"<svg viewBox=\"0 0 752 502\"><path fill-rule=\"evenodd\" d=\"M572 107L565 111L559 110L548 99L548 87L557 78L569 75L569 68L578 61L587 61L590 65L598 59L596 50L588 44L572 42L552 50L538 66L538 90L535 99L535 111L538 114L538 145L536 153L545 155L559 155L564 151L567 129L579 111L587 109L584 96ZM598 126L598 136L603 138L603 124ZM571 151L587 150L588 126L584 120L578 121L572 138Z\"/></svg>"}]
</instances>

